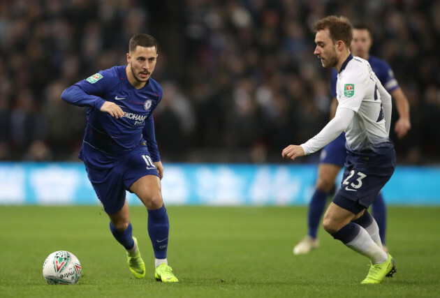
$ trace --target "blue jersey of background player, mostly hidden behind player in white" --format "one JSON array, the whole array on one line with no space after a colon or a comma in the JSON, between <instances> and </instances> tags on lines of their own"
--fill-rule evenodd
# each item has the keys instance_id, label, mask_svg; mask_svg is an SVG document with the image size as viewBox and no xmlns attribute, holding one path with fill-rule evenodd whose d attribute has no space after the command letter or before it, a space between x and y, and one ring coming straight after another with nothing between
<instances>
[{"instance_id":1,"label":"blue jersey of background player, mostly hidden behind player in white","mask_svg":"<svg viewBox=\"0 0 440 298\"><path fill-rule=\"evenodd\" d=\"M374 74L376 74L376 77L379 79L379 81L381 81L382 86L385 87L386 91L388 91L389 94L391 94L392 91L394 91L395 89L397 89L397 87L399 87L399 84L397 83L397 80L394 77L393 70L386 63L386 61L374 57L373 55L369 55L367 61L369 65L372 66L372 70ZM336 81L337 81L337 71L335 70L335 68L333 68L332 86L331 86L332 97L336 97Z\"/></svg>"}]
</instances>

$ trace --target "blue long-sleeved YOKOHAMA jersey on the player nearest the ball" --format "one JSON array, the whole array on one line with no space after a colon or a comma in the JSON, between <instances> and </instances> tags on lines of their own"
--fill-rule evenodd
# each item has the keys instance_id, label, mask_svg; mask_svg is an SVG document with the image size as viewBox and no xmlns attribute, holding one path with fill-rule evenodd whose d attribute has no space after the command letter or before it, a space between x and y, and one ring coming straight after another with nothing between
<instances>
[{"instance_id":1,"label":"blue long-sleeved YOKOHAMA jersey on the player nearest the ball","mask_svg":"<svg viewBox=\"0 0 440 298\"><path fill-rule=\"evenodd\" d=\"M82 161L89 167L112 166L142 144L152 161L160 161L152 115L162 95L161 85L152 78L145 87L135 89L126 76L126 66L101 70L66 89L62 99L88 107ZM105 101L119 105L124 116L116 119L101 112Z\"/></svg>"}]
</instances>

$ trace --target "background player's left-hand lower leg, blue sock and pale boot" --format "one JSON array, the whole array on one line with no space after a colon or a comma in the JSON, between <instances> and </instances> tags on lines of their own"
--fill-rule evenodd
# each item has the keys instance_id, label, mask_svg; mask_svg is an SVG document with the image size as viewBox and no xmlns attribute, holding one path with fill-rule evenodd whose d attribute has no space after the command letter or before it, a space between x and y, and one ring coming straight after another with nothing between
<instances>
[{"instance_id":1,"label":"background player's left-hand lower leg, blue sock and pale boot","mask_svg":"<svg viewBox=\"0 0 440 298\"><path fill-rule=\"evenodd\" d=\"M318 179L316 180L316 188L309 203L309 211L307 214L308 232L294 248L293 253L300 255L309 253L318 247L318 228L323 216L327 198L335 186L337 174L341 170L341 166L330 163L320 163L318 165Z\"/></svg>"}]
</instances>

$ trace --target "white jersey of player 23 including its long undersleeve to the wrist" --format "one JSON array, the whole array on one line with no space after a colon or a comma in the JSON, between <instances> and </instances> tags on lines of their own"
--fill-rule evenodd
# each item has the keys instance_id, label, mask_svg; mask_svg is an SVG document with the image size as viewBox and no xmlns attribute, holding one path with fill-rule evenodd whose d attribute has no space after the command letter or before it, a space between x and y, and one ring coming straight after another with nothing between
<instances>
[{"instance_id":1,"label":"white jersey of player 23 including its long undersleeve to the wrist","mask_svg":"<svg viewBox=\"0 0 440 298\"><path fill-rule=\"evenodd\" d=\"M344 61L336 82L338 106L323 130L305 144L305 154L318 151L345 131L346 146L353 151L374 149L389 141L391 96L368 61L353 57Z\"/></svg>"}]
</instances>

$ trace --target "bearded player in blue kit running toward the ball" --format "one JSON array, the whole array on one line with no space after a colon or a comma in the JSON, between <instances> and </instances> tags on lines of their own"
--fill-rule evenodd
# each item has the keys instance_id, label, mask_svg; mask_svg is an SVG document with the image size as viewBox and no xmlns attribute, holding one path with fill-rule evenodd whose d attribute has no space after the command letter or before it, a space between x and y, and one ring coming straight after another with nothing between
<instances>
[{"instance_id":1,"label":"bearded player in blue kit running toward the ball","mask_svg":"<svg viewBox=\"0 0 440 298\"><path fill-rule=\"evenodd\" d=\"M145 264L132 235L126 190L135 193L147 208L156 280L177 282L167 261L170 225L161 195L163 165L154 135L153 111L163 95L161 85L151 78L157 56L155 38L136 34L126 54L128 65L101 70L68 87L61 98L88 107L79 158L110 218L113 237L126 249L131 273L143 278Z\"/></svg>"}]
</instances>

